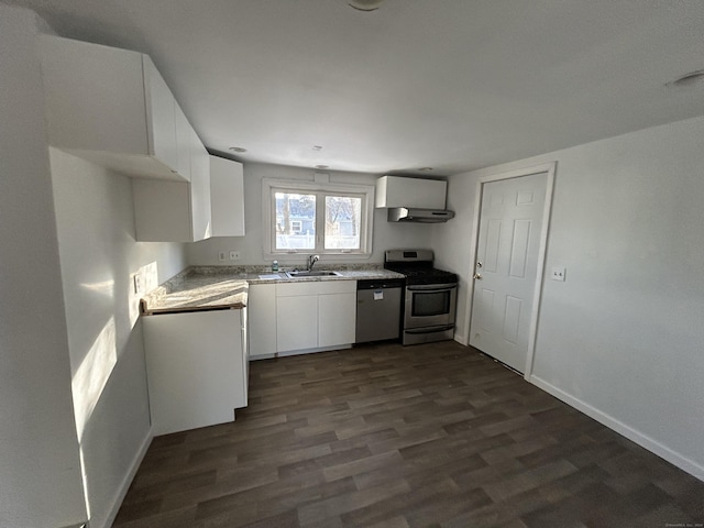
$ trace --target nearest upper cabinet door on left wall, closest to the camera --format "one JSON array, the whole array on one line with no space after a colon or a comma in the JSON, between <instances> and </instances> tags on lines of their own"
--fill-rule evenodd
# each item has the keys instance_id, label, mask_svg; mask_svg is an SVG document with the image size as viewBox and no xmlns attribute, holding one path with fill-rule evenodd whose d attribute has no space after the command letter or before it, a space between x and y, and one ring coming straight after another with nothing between
<instances>
[{"instance_id":1,"label":"nearest upper cabinet door on left wall, closest to the camera","mask_svg":"<svg viewBox=\"0 0 704 528\"><path fill-rule=\"evenodd\" d=\"M150 152L176 173L178 172L178 146L175 99L152 59L143 55L142 61Z\"/></svg>"}]
</instances>

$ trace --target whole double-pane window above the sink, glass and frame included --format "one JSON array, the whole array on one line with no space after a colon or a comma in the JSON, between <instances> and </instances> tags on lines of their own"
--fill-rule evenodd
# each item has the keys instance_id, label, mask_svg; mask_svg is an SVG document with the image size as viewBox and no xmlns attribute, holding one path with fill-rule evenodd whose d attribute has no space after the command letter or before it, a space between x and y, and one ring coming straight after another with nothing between
<instances>
[{"instance_id":1,"label":"whole double-pane window above the sink, glass and frame included","mask_svg":"<svg viewBox=\"0 0 704 528\"><path fill-rule=\"evenodd\" d=\"M373 191L370 185L264 179L265 254L367 256Z\"/></svg>"}]
</instances>

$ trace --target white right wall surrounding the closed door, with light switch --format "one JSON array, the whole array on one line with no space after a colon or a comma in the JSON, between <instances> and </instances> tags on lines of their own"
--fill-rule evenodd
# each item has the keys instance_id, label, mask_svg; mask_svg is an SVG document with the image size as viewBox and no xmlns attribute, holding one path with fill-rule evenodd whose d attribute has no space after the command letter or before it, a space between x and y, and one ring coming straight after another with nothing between
<instances>
[{"instance_id":1,"label":"white right wall surrounding the closed door, with light switch","mask_svg":"<svg viewBox=\"0 0 704 528\"><path fill-rule=\"evenodd\" d=\"M479 177L551 161L566 282L543 283L531 381L704 480L704 118L453 176L439 263L468 284Z\"/></svg>"}]
</instances>

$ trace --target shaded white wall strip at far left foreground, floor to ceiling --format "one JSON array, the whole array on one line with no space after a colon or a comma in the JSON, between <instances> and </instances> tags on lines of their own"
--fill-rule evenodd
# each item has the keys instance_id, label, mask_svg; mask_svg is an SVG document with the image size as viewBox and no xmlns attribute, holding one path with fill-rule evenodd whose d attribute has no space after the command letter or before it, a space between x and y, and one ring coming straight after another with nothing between
<instances>
[{"instance_id":1,"label":"shaded white wall strip at far left foreground, floor to ceiling","mask_svg":"<svg viewBox=\"0 0 704 528\"><path fill-rule=\"evenodd\" d=\"M85 521L36 54L0 3L0 527Z\"/></svg>"}]
</instances>

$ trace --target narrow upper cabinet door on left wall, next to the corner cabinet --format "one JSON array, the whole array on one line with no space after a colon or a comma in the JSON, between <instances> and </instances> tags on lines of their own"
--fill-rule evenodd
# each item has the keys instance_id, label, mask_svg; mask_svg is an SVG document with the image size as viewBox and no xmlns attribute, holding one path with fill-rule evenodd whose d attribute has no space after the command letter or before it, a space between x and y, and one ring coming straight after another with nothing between
<instances>
[{"instance_id":1,"label":"narrow upper cabinet door on left wall, next to the corner cabinet","mask_svg":"<svg viewBox=\"0 0 704 528\"><path fill-rule=\"evenodd\" d=\"M193 241L209 239L212 234L210 156L193 129L190 129L190 212Z\"/></svg>"}]
</instances>

